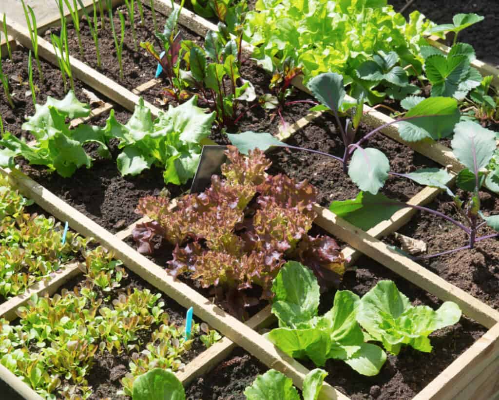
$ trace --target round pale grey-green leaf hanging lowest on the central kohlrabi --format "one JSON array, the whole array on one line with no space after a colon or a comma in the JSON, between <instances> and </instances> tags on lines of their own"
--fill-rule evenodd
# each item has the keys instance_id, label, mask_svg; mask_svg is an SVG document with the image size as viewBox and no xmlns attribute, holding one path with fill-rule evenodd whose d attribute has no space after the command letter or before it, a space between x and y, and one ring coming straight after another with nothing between
<instances>
[{"instance_id":1,"label":"round pale grey-green leaf hanging lowest on the central kohlrabi","mask_svg":"<svg viewBox=\"0 0 499 400\"><path fill-rule=\"evenodd\" d=\"M373 195L383 187L390 171L390 162L378 149L356 149L350 159L348 176L361 191Z\"/></svg>"}]
</instances>

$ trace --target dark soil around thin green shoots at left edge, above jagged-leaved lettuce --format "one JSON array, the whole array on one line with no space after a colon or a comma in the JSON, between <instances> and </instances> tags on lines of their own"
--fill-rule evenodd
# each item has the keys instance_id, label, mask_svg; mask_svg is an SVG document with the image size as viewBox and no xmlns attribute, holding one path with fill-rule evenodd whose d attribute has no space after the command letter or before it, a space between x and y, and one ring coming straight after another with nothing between
<instances>
[{"instance_id":1,"label":"dark soil around thin green shoots at left edge, above jagged-leaved lettuce","mask_svg":"<svg viewBox=\"0 0 499 400\"><path fill-rule=\"evenodd\" d=\"M58 68L40 59L41 68L44 76L44 83L38 79L38 70L35 66L33 57L33 83L39 90L36 92L36 102L44 104L48 96L56 99L62 99L66 95L62 83L61 73ZM15 108L12 110L8 105L3 88L0 93L0 116L3 120L3 128L16 137L31 138L26 131L22 131L21 125L25 122L26 116L34 114L33 101L31 95L25 96L29 91L28 84L28 50L19 47L12 52L12 60L2 59L3 73L8 77L9 90L12 95ZM78 100L87 103L87 98L82 94L81 88L93 91L88 86L75 79L75 94ZM97 94L97 93L96 93ZM107 101L105 97L98 95L102 100Z\"/></svg>"}]
</instances>

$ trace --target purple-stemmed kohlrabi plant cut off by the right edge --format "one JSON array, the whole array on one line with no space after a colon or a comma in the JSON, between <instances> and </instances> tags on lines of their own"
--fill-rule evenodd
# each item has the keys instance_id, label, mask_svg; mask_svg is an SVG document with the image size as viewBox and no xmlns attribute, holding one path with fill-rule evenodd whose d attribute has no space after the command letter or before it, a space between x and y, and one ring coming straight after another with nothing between
<instances>
[{"instance_id":1,"label":"purple-stemmed kohlrabi plant cut off by the right edge","mask_svg":"<svg viewBox=\"0 0 499 400\"><path fill-rule=\"evenodd\" d=\"M465 167L457 176L457 186L465 192L463 200L447 186L452 176L446 170L428 168L409 174L398 174L411 179L420 185L440 188L451 198L458 212L457 217L451 217L440 211L421 205L413 205L401 201L390 200L384 196L371 196L360 193L354 200L334 201L331 211L349 222L359 226L372 226L375 214L383 209L394 212L404 207L412 207L429 212L462 229L468 236L467 243L462 247L446 250L438 254L430 254L417 258L431 258L460 250L473 249L477 242L499 236L499 233L480 235L480 229L489 226L499 231L499 215L485 215L481 211L479 191L485 185L488 189L499 193L499 169L494 162L497 134L483 128L476 122L463 121L456 125L454 138L451 142L454 155ZM373 219L374 218L374 219Z\"/></svg>"}]
</instances>

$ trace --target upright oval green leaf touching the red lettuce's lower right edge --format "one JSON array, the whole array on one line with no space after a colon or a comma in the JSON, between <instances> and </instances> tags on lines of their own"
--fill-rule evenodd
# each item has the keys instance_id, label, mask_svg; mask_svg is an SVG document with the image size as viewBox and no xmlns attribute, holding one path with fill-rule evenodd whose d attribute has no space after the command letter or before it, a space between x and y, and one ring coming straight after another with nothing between
<instances>
[{"instance_id":1,"label":"upright oval green leaf touching the red lettuce's lower right edge","mask_svg":"<svg viewBox=\"0 0 499 400\"><path fill-rule=\"evenodd\" d=\"M272 313L279 326L295 328L317 315L319 285L313 272L297 261L288 261L279 270L272 283L275 294Z\"/></svg>"}]
</instances>

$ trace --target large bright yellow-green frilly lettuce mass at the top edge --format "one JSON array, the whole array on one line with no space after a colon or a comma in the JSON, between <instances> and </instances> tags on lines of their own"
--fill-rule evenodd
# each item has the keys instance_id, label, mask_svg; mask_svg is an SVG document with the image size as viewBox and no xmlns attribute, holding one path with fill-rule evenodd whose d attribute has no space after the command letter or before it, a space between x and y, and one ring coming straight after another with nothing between
<instances>
[{"instance_id":1,"label":"large bright yellow-green frilly lettuce mass at the top edge","mask_svg":"<svg viewBox=\"0 0 499 400\"><path fill-rule=\"evenodd\" d=\"M418 11L407 22L385 0L258 0L244 25L245 39L255 46L253 57L265 69L291 57L303 66L306 81L332 71L346 83L357 82L355 70L379 51L396 51L402 67L421 71L420 46L432 26Z\"/></svg>"}]
</instances>

